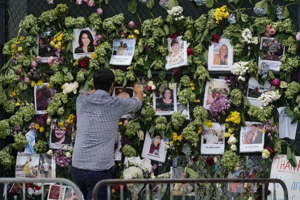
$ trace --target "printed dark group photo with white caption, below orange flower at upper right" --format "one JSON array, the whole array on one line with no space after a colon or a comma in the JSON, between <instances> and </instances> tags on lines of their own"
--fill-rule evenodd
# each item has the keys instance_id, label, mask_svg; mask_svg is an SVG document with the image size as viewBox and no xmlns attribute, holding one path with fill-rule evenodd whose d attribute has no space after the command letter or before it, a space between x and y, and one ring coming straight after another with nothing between
<instances>
[{"instance_id":1,"label":"printed dark group photo with white caption, below orange flower at upper right","mask_svg":"<svg viewBox=\"0 0 300 200\"><path fill-rule=\"evenodd\" d=\"M262 62L265 62L269 65L270 70L279 71L281 65L280 59L285 52L282 42L275 40L274 37L262 37L260 49L263 52L261 52L262 55L258 58L258 66Z\"/></svg>"}]
</instances>

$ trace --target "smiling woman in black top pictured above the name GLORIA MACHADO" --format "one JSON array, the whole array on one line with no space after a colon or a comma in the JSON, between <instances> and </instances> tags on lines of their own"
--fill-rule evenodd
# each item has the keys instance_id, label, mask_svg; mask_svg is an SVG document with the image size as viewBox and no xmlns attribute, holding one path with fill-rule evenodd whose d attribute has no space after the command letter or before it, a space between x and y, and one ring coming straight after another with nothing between
<instances>
[{"instance_id":1,"label":"smiling woman in black top pictured above the name GLORIA MACHADO","mask_svg":"<svg viewBox=\"0 0 300 200\"><path fill-rule=\"evenodd\" d=\"M173 90L164 88L162 96L156 99L156 111L174 111Z\"/></svg>"}]
</instances>

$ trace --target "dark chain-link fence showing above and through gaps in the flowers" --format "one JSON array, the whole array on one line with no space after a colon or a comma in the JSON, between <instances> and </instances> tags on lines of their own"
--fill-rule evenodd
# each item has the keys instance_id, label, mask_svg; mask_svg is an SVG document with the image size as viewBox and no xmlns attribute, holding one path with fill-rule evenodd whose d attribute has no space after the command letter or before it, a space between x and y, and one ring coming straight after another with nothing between
<instances>
[{"instance_id":1,"label":"dark chain-link fence showing above and through gaps in the flowers","mask_svg":"<svg viewBox=\"0 0 300 200\"><path fill-rule=\"evenodd\" d=\"M242 7L243 8L247 8L245 13L247 13L248 15L254 16L254 12L253 12L253 7L255 5L256 2L258 2L259 0L244 0L242 3ZM136 22L136 25L139 27L140 26L140 20L146 20L152 17L152 15L154 17L158 17L158 16L163 16L166 17L167 16L167 12L166 10L162 9L159 5L158 5L158 0L156 0L155 2L155 6L149 10L146 5L142 4L141 2L138 2L138 6L137 6L137 12L132 14L131 12L128 11L128 3L129 0L123 0L123 1L113 1L110 0L108 4L105 4L104 1L101 3L101 8L103 9L103 15L101 16L103 19L107 18L107 17L112 17L118 13L123 13L125 20L124 22L129 22L131 20L133 20L134 22ZM208 12L208 8L206 8L205 6L199 7L196 6L194 3L188 1L188 0L179 0L179 5L183 7L183 15L185 16L191 16L194 20L197 19L198 17L200 17L202 14L207 14ZM79 16L83 16L88 18L90 16L91 13L96 12L96 9L98 8L97 5L93 8L88 7L86 4L83 5L76 5L74 3L70 4L69 1L55 1L54 4L48 4L46 0L18 0L18 1L12 1L12 0L6 0L5 1L5 42L9 41L10 39L12 39L13 37L16 37L17 34L17 30L19 27L19 23L20 21L22 21L24 19L25 16L29 15L29 14L33 14L36 17L39 17L40 14L46 10L49 9L54 9L56 4L58 3L66 3L69 7L69 13L68 16L72 16L72 17L79 17ZM292 4L294 3L294 4ZM297 12L297 4L295 4L295 1L281 1L281 0L274 0L273 4L276 5L280 5L280 6L284 6L287 4L291 4L288 5L287 8L290 11L290 18L292 19L293 24L297 24L297 16L298 16L298 12ZM214 3L214 7L213 8L217 8L217 7L221 7L221 5L227 5L227 7L230 10L235 10L237 7L233 4L233 3L229 3L228 1L223 1L223 0L219 0L219 1L215 1ZM215 73L217 74L217 73ZM220 73L218 73L220 74ZM214 73L210 73L210 75L214 75ZM171 77L166 77L166 79L168 80L171 79ZM179 82L180 81L180 77L174 77L175 78L175 82ZM219 78L218 76L215 76L215 78ZM25 94L24 94L25 95ZM199 94L197 96L197 99L200 99L201 102L199 103L199 105L203 105L203 94ZM242 108L241 108L242 110ZM5 116L5 118L9 118L8 115ZM211 116L210 116L211 118ZM275 115L275 118L278 119L278 113ZM167 117L168 121L170 120L170 117ZM182 129L184 127L187 126L187 124L190 123L190 121L186 121L184 123L184 125L182 126L182 128L180 130L178 130L179 133L182 132ZM299 126L298 126L298 130L299 130ZM295 140L290 140L287 139L287 142L289 142L294 148L296 148L296 152L295 155L299 155L299 146L300 146L300 135L299 132L297 130L297 134L296 134L296 138ZM268 143L268 138L265 138L265 143ZM6 139L4 141L4 146L13 143L12 138L10 137L9 139ZM227 146L225 146L225 148L227 148ZM12 156L16 157L17 152L12 152ZM258 157L261 157L261 153L242 153L240 154L242 157L246 157L248 155L257 155ZM203 160L205 160L209 155L200 155L200 157L202 157ZM160 163L160 162L154 162L153 161L153 165L157 164L158 168L154 171L154 175L158 175L161 173L166 173L170 171L170 167L173 165L173 161L168 159L169 155L167 154L166 156L166 162L165 163ZM220 178L220 174L221 174L221 170L223 170L221 168L221 156L217 156L218 161L216 163L216 168L215 168L215 173L213 177L210 177L207 174L207 171L203 166L200 167L199 171L202 171L202 174L206 174L208 177L207 178ZM241 168L246 166L246 159L240 159L242 162ZM185 155L180 155L179 159L178 159L178 163L180 163L181 166L186 166L188 164L188 162L190 162L190 158L186 157ZM115 166L115 175L117 176L120 167L118 166L118 162L116 162L116 166ZM265 168L263 168L263 170L265 170L266 168L270 169L271 168L271 160L268 160L267 165ZM223 171L222 171L223 173ZM4 177L14 177L15 176L15 169L14 167L12 167L10 170L5 170L4 171ZM68 177L71 178L71 177ZM223 177L226 178L226 177ZM272 177L271 177L272 178ZM203 196L205 193L205 186L203 186L203 188L199 188L198 192L200 192ZM224 195L226 197L229 197L229 194L224 193ZM203 197L202 196L202 197Z\"/></svg>"}]
</instances>

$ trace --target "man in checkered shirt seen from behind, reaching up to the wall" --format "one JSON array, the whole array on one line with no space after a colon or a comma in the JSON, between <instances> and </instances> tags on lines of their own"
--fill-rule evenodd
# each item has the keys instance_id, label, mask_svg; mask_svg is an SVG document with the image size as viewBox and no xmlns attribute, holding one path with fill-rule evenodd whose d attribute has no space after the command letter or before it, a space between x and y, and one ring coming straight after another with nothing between
<instances>
[{"instance_id":1,"label":"man in checkered shirt seen from behind, reaching up to the wall","mask_svg":"<svg viewBox=\"0 0 300 200\"><path fill-rule=\"evenodd\" d=\"M94 90L80 94L76 101L77 134L73 148L72 176L85 200L103 179L113 178L114 141L121 116L141 108L143 85L134 85L135 98L111 97L114 73L100 69L94 75ZM107 199L106 186L98 199Z\"/></svg>"}]
</instances>

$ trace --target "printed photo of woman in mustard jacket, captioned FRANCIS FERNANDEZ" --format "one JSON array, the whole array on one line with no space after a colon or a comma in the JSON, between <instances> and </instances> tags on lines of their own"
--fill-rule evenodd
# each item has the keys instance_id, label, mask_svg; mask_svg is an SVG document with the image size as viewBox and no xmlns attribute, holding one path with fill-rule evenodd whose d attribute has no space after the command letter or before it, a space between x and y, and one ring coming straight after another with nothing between
<instances>
[{"instance_id":1,"label":"printed photo of woman in mustard jacket, captioned FRANCIS FERNANDEZ","mask_svg":"<svg viewBox=\"0 0 300 200\"><path fill-rule=\"evenodd\" d=\"M220 39L208 47L208 70L231 70L233 62L233 45L230 39Z\"/></svg>"}]
</instances>

